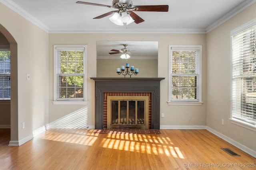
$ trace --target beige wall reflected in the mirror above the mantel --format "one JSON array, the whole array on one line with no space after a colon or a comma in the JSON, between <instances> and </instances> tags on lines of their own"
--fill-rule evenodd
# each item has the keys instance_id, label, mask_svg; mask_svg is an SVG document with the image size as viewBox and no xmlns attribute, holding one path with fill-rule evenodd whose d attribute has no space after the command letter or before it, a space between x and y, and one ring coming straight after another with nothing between
<instances>
[{"instance_id":1,"label":"beige wall reflected in the mirror above the mantel","mask_svg":"<svg viewBox=\"0 0 256 170\"><path fill-rule=\"evenodd\" d=\"M129 63L130 66L139 68L139 74L132 77L158 77L158 60L157 59L97 59L97 77L124 77L118 75L116 68L121 68ZM130 68L129 68L130 71ZM126 77L130 77L126 75Z\"/></svg>"}]
</instances>

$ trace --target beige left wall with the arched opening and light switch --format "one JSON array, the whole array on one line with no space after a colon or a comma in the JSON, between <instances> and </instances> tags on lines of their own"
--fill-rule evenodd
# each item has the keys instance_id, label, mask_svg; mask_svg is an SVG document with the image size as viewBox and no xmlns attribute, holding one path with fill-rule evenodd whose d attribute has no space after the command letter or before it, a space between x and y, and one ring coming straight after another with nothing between
<instances>
[{"instance_id":1,"label":"beige left wall with the arched opening and light switch","mask_svg":"<svg viewBox=\"0 0 256 170\"><path fill-rule=\"evenodd\" d=\"M0 31L12 52L11 140L16 142L48 123L48 33L2 3L0 9Z\"/></svg>"}]
</instances>

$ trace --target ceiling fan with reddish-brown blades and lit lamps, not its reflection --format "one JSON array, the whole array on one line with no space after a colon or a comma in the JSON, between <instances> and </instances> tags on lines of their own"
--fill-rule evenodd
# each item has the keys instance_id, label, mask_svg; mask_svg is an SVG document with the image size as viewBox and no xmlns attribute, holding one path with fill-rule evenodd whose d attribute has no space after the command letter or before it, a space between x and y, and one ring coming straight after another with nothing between
<instances>
[{"instance_id":1,"label":"ceiling fan with reddish-brown blades and lit lamps, not its reflection","mask_svg":"<svg viewBox=\"0 0 256 170\"><path fill-rule=\"evenodd\" d=\"M146 12L168 12L168 5L141 5L141 6L133 6L132 0L113 0L112 6L110 5L102 5L102 4L94 4L90 2L82 2L77 1L77 4L85 4L85 5L94 5L94 6L104 6L108 8L114 8L116 10L107 12L106 14L102 14L93 19L100 19L111 14L114 14L110 17L110 21L115 23L116 25L126 25L135 22L141 23L144 22L140 16L134 13L134 11L146 11Z\"/></svg>"}]
</instances>

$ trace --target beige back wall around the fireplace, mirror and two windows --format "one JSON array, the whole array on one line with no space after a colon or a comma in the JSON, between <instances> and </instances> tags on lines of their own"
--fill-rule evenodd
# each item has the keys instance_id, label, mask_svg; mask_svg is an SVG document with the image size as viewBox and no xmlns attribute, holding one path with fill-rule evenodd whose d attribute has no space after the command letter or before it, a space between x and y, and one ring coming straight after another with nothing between
<instances>
[{"instance_id":1,"label":"beige back wall around the fireplace, mirror and two windows","mask_svg":"<svg viewBox=\"0 0 256 170\"><path fill-rule=\"evenodd\" d=\"M94 125L94 80L90 77L97 75L96 42L97 41L158 41L158 77L164 77L161 81L160 111L165 117L160 119L161 126L172 125L206 125L206 34L129 34L125 39L120 39L119 34L49 34L49 122L71 115L76 110L86 107L88 109L88 125ZM70 106L53 105L53 45L87 45L88 47L88 105ZM168 106L168 45L202 45L202 106ZM106 61L106 62L112 62ZM106 72L104 76L116 76L116 65L112 62L113 72ZM122 64L123 65L123 64ZM112 67L111 66L111 67ZM134 64L136 67L136 64ZM142 68L139 68L143 72ZM148 74L145 76L149 76ZM79 120L77 120L79 121Z\"/></svg>"}]
</instances>

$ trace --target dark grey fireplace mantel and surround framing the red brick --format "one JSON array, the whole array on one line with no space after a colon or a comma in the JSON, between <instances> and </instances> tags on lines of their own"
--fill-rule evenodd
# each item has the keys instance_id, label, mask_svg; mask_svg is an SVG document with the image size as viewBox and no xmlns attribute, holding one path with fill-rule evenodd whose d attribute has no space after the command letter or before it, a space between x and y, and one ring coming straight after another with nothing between
<instances>
[{"instance_id":1,"label":"dark grey fireplace mantel and surround framing the red brick","mask_svg":"<svg viewBox=\"0 0 256 170\"><path fill-rule=\"evenodd\" d=\"M95 81L95 129L103 129L103 94L106 92L151 93L151 129L160 129L160 81L164 78L99 78Z\"/></svg>"}]
</instances>

